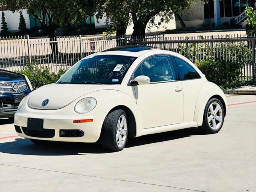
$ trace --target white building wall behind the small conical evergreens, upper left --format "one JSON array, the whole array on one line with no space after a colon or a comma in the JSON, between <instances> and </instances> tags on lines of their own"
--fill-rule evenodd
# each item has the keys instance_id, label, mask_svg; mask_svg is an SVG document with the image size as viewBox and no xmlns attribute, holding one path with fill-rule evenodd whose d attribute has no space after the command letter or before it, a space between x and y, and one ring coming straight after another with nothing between
<instances>
[{"instance_id":1,"label":"white building wall behind the small conical evergreens, upper left","mask_svg":"<svg viewBox=\"0 0 256 192\"><path fill-rule=\"evenodd\" d=\"M18 31L19 27L19 22L20 22L20 13L19 12L11 12L11 11L3 11L4 12L4 17L5 21L8 26L8 31ZM30 29L30 19L29 19L29 14L27 13L26 10L22 10L22 14L24 16L24 19L26 21L26 27L27 29ZM2 11L0 11L0 18L2 17ZM1 19L0 19L1 20ZM2 27L1 22L0 22L0 28ZM0 29L1 30L1 29Z\"/></svg>"}]
</instances>

